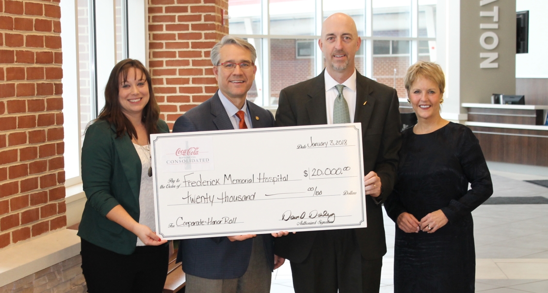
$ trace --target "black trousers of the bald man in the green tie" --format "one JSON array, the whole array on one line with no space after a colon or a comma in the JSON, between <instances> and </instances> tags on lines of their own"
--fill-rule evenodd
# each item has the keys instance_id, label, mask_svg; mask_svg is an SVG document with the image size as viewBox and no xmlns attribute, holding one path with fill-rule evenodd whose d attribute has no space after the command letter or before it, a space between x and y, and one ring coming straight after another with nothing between
<instances>
[{"instance_id":1,"label":"black trousers of the bald man in the green tie","mask_svg":"<svg viewBox=\"0 0 548 293\"><path fill-rule=\"evenodd\" d=\"M363 258L352 229L319 232L305 261L290 263L295 293L379 292L383 258Z\"/></svg>"}]
</instances>

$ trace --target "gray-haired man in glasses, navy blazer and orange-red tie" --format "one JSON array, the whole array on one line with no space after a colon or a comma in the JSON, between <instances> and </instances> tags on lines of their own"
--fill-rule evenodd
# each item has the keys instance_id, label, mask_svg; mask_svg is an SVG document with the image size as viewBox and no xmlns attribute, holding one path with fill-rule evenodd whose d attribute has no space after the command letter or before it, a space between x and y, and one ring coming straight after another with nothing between
<instances>
[{"instance_id":1,"label":"gray-haired man in glasses, navy blazer and orange-red tie","mask_svg":"<svg viewBox=\"0 0 548 293\"><path fill-rule=\"evenodd\" d=\"M272 113L246 100L255 59L255 48L241 38L225 36L215 44L211 60L219 90L179 117L173 132L272 127ZM242 153L234 159L247 158ZM284 262L273 253L272 236L281 235L287 232L180 240L186 293L270 292L271 272Z\"/></svg>"}]
</instances>

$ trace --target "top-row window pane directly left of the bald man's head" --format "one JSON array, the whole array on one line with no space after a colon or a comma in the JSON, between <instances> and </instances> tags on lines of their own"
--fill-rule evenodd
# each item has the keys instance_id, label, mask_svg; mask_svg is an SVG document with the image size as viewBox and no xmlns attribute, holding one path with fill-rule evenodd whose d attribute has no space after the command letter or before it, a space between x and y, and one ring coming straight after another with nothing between
<instances>
[{"instance_id":1,"label":"top-row window pane directly left of the bald man's head","mask_svg":"<svg viewBox=\"0 0 548 293\"><path fill-rule=\"evenodd\" d=\"M270 1L270 34L313 36L316 34L315 0Z\"/></svg>"}]
</instances>

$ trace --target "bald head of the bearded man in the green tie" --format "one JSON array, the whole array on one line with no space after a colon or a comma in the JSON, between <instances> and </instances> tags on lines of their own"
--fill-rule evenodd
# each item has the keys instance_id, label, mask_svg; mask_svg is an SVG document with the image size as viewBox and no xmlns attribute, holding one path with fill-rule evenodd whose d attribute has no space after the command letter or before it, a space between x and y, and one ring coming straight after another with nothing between
<instances>
[{"instance_id":1,"label":"bald head of the bearded man in the green tie","mask_svg":"<svg viewBox=\"0 0 548 293\"><path fill-rule=\"evenodd\" d=\"M354 57L361 43L356 22L350 16L335 13L323 22L318 45L326 57L326 70L335 81L343 83L354 73Z\"/></svg>"}]
</instances>

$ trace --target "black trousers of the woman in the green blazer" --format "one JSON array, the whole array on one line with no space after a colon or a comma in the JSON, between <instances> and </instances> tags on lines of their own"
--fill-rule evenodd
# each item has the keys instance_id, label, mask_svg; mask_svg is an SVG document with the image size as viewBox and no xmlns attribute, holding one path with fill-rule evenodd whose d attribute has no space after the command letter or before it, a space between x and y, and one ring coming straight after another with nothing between
<instances>
[{"instance_id":1,"label":"black trousers of the woman in the green blazer","mask_svg":"<svg viewBox=\"0 0 548 293\"><path fill-rule=\"evenodd\" d=\"M82 239L82 273L89 293L161 293L168 273L169 246L137 246L131 255Z\"/></svg>"}]
</instances>

